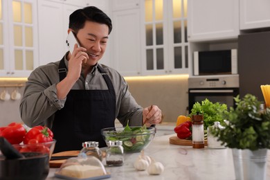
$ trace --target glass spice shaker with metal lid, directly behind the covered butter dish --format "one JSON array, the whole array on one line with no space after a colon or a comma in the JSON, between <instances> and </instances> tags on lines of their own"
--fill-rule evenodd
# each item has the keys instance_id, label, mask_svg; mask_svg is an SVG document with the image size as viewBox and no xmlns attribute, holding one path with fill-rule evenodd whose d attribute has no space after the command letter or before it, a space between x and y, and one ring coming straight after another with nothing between
<instances>
[{"instance_id":1,"label":"glass spice shaker with metal lid, directly behind the covered butter dish","mask_svg":"<svg viewBox=\"0 0 270 180\"><path fill-rule=\"evenodd\" d=\"M97 159L102 161L102 151L98 147L99 143L96 141L86 141L82 143L82 150L79 156L96 156Z\"/></svg>"}]
</instances>

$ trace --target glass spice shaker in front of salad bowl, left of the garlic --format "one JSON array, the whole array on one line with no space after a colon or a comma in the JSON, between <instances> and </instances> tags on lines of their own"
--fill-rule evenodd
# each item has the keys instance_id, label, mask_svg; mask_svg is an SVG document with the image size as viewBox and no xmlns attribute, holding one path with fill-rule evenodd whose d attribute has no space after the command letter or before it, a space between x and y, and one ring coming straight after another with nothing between
<instances>
[{"instance_id":1,"label":"glass spice shaker in front of salad bowl, left of the garlic","mask_svg":"<svg viewBox=\"0 0 270 180\"><path fill-rule=\"evenodd\" d=\"M122 141L107 141L106 163L109 166L120 166L124 162Z\"/></svg>"}]
</instances>

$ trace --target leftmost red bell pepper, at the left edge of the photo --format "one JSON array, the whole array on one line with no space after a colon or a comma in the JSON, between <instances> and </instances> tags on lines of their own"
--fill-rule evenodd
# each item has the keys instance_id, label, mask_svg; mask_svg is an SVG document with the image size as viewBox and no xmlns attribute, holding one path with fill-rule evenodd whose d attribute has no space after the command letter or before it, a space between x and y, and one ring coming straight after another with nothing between
<instances>
[{"instance_id":1,"label":"leftmost red bell pepper, at the left edge of the photo","mask_svg":"<svg viewBox=\"0 0 270 180\"><path fill-rule=\"evenodd\" d=\"M10 144L19 144L24 140L26 129L21 123L10 123L7 127L1 128L0 136L3 136Z\"/></svg>"}]
</instances>

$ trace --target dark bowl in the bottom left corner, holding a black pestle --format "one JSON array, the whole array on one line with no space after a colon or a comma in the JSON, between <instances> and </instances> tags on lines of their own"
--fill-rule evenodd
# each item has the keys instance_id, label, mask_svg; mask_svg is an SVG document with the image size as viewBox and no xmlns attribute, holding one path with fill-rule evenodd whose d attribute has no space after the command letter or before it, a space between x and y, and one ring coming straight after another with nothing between
<instances>
[{"instance_id":1,"label":"dark bowl in the bottom left corner, holding a black pestle","mask_svg":"<svg viewBox=\"0 0 270 180\"><path fill-rule=\"evenodd\" d=\"M0 179L37 180L48 176L49 156L39 152L26 152L25 158L5 159L0 155Z\"/></svg>"}]
</instances>

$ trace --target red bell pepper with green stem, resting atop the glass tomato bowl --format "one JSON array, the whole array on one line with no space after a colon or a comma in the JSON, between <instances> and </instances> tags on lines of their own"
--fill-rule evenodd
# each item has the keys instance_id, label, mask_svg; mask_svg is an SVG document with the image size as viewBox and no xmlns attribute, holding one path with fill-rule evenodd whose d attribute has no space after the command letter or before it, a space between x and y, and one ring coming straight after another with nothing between
<instances>
[{"instance_id":1,"label":"red bell pepper with green stem, resting atop the glass tomato bowl","mask_svg":"<svg viewBox=\"0 0 270 180\"><path fill-rule=\"evenodd\" d=\"M28 144L31 139L36 139L38 143L50 142L53 141L53 132L48 127L38 125L27 132L24 137L24 144Z\"/></svg>"}]
</instances>

